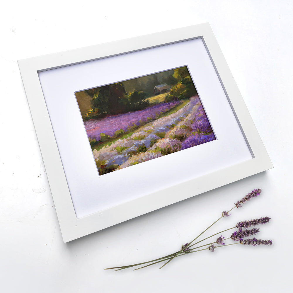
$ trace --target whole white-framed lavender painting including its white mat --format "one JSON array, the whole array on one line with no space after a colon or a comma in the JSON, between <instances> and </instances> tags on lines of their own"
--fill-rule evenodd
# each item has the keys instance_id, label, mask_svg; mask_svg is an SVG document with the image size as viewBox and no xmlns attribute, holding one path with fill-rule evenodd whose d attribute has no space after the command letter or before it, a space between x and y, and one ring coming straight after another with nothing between
<instances>
[{"instance_id":1,"label":"whole white-framed lavender painting including its white mat","mask_svg":"<svg viewBox=\"0 0 293 293\"><path fill-rule=\"evenodd\" d=\"M207 23L18 64L64 242L272 168Z\"/></svg>"}]
</instances>

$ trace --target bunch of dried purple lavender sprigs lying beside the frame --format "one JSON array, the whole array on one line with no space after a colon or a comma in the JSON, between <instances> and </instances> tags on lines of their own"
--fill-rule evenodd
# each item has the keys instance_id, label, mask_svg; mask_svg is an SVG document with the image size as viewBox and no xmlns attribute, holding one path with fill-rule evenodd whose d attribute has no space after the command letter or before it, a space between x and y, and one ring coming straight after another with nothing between
<instances>
[{"instance_id":1,"label":"bunch of dried purple lavender sprigs lying beside the frame","mask_svg":"<svg viewBox=\"0 0 293 293\"><path fill-rule=\"evenodd\" d=\"M236 202L235 206L232 209L234 209L235 207L236 208L242 207L242 204L244 204L247 201L251 200L251 198L253 198L253 197L257 197L260 193L261 193L260 189L253 190L251 193L248 193L248 195L246 195L241 200ZM193 253L193 252L198 252L198 251L203 251L203 250L209 250L209 251L213 252L216 248L229 246L229 245L234 245L234 244L242 244L242 245L248 245L248 246L249 245L258 246L258 245L272 245L273 244L273 242L271 240L260 240L260 239L256 239L255 237L253 237L251 239L244 239L245 237L255 235L255 234L257 234L259 232L258 228L253 228L253 229L246 229L246 228L249 228L251 226L256 226L256 225L259 225L259 224L268 223L270 221L270 219L271 219L269 217L263 217L263 218L259 218L259 219L238 222L236 224L236 226L233 226L233 227L231 227L229 229L225 229L223 231L220 231L220 232L218 232L216 234L213 234L213 235L211 235L211 236L209 236L209 237L207 237L205 239L202 239L201 241L197 241L196 243L194 243L195 240L198 237L200 237L203 233L205 233L210 227L212 227L220 219L222 219L224 217L231 216L231 214L229 214L229 212L231 212L232 209L230 209L228 212L226 212L226 211L222 212L222 216L219 219L217 219L217 221L215 221L212 225L207 227L207 229L205 229L202 233L200 233L197 237L195 237L195 239L193 239L189 243L185 243L185 245L182 245L180 251L176 251L175 253L165 255L165 256L163 256L161 258L156 258L156 259L149 260L149 261L146 261L146 262L143 262L143 263L136 263L136 264L133 264L133 265L124 265L124 266L120 266L120 267L106 268L105 270L111 270L111 269L123 270L123 269L126 269L126 268L132 268L132 267L135 267L135 266L143 265L142 267L134 269L134 270L139 270L139 269L148 267L150 265L154 265L156 263L161 263L163 261L167 261L164 265L162 265L160 267L160 269L161 269L161 268L163 268L163 266L165 266L167 263L169 263L174 258L176 258L178 256L182 256L182 255L187 255L187 254L190 254L190 253ZM237 228L238 231L234 231L232 233L231 237L226 239L226 240L228 240L228 239L231 238L234 241L234 243L225 245L225 243L223 242L224 237L221 235L214 242L207 243L207 244L192 248L193 246L197 245L198 243L200 243L202 241L205 241L205 240L207 240L207 239L209 239L211 237L214 237L214 236L216 236L216 235L218 235L220 233L223 233L225 231L235 229L235 228ZM218 246L215 246L215 245L218 245ZM205 247L205 248L202 248L202 247ZM199 249L199 248L201 248L201 249ZM147 264L147 265L145 265L145 264Z\"/></svg>"}]
</instances>

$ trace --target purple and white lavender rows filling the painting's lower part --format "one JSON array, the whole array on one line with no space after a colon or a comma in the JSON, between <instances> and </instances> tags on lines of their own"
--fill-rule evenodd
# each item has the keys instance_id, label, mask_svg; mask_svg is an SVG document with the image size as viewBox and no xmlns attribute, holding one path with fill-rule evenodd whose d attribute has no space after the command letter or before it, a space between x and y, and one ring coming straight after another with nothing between
<instances>
[{"instance_id":1,"label":"purple and white lavender rows filling the painting's lower part","mask_svg":"<svg viewBox=\"0 0 293 293\"><path fill-rule=\"evenodd\" d=\"M100 175L216 139L198 96L84 124Z\"/></svg>"}]
</instances>

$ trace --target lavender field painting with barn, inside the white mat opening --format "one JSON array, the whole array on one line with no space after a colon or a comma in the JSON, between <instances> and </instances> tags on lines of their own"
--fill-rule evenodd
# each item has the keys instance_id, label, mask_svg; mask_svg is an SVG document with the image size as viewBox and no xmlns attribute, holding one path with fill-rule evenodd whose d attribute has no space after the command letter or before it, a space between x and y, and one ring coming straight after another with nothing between
<instances>
[{"instance_id":1,"label":"lavender field painting with barn, inside the white mat opening","mask_svg":"<svg viewBox=\"0 0 293 293\"><path fill-rule=\"evenodd\" d=\"M75 96L100 175L216 139L186 66Z\"/></svg>"}]
</instances>

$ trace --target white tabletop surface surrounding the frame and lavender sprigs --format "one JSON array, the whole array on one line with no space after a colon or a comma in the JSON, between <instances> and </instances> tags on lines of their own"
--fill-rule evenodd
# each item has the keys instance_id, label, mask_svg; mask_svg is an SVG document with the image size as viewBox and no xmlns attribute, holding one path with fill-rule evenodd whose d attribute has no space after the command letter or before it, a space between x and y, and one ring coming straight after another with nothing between
<instances>
[{"instance_id":1,"label":"white tabletop surface surrounding the frame and lavender sprigs","mask_svg":"<svg viewBox=\"0 0 293 293\"><path fill-rule=\"evenodd\" d=\"M285 0L6 1L0 18L1 292L291 292L292 14ZM17 60L204 22L274 169L64 244ZM254 188L262 194L217 227L269 216L257 237L272 246L202 251L161 270L103 270L178 250Z\"/></svg>"}]
</instances>

